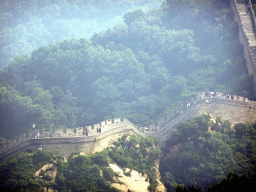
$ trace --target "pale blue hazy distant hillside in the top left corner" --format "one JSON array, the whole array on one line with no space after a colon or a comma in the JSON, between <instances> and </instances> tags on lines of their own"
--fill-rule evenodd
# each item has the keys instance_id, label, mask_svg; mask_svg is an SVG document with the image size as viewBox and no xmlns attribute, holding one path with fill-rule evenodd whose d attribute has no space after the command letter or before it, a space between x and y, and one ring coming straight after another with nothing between
<instances>
[{"instance_id":1,"label":"pale blue hazy distant hillside in the top left corner","mask_svg":"<svg viewBox=\"0 0 256 192\"><path fill-rule=\"evenodd\" d=\"M16 56L71 38L90 38L121 22L129 10L164 0L1 0L0 68Z\"/></svg>"}]
</instances>

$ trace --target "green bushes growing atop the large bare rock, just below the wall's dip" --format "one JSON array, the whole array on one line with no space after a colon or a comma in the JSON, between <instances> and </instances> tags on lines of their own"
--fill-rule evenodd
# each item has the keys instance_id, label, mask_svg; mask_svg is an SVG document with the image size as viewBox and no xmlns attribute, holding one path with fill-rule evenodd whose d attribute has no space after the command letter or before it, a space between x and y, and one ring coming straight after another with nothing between
<instances>
[{"instance_id":1,"label":"green bushes growing atop the large bare rock, just below the wall's dip","mask_svg":"<svg viewBox=\"0 0 256 192\"><path fill-rule=\"evenodd\" d=\"M156 160L162 157L162 151L154 145L155 140L150 137L123 135L115 143L115 148L109 150L109 157L123 168L128 167L147 174L150 180L150 189L154 190L157 182L153 167ZM126 174L129 175L129 172Z\"/></svg>"}]
</instances>

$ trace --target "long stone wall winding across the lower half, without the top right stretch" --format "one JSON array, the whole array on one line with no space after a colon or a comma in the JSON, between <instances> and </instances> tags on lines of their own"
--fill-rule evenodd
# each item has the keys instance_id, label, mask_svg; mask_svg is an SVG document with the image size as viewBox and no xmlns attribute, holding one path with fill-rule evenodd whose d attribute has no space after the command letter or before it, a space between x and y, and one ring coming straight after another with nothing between
<instances>
[{"instance_id":1,"label":"long stone wall winding across the lower half, without the top right stretch","mask_svg":"<svg viewBox=\"0 0 256 192\"><path fill-rule=\"evenodd\" d=\"M212 114L231 123L256 121L256 101L244 97L224 96L222 93L216 94L216 97L208 97L200 93L195 97L194 104L188 102L191 103L190 106L183 105L177 108L178 111L167 114L146 129L137 129L129 120L117 118L85 128L66 129L66 131L42 130L39 138L36 139L33 133L24 134L17 142L10 142L0 148L0 161L24 149L41 148L66 157L79 152L98 152L117 141L125 133L154 137L159 140L159 146L163 146L176 124L202 114ZM102 132L97 133L97 128L101 128ZM89 130L88 136L84 134L85 129Z\"/></svg>"}]
</instances>

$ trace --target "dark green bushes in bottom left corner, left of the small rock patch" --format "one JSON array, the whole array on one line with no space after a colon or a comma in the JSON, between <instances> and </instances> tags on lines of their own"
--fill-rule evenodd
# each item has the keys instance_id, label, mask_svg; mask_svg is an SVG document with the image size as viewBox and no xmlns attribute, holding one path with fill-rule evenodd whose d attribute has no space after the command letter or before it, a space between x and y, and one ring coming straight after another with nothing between
<instances>
[{"instance_id":1,"label":"dark green bushes in bottom left corner, left of the small rock patch","mask_svg":"<svg viewBox=\"0 0 256 192\"><path fill-rule=\"evenodd\" d=\"M1 191L42 191L45 182L34 176L44 164L56 157L52 153L36 151L22 152L0 165ZM51 176L46 175L50 181Z\"/></svg>"}]
</instances>

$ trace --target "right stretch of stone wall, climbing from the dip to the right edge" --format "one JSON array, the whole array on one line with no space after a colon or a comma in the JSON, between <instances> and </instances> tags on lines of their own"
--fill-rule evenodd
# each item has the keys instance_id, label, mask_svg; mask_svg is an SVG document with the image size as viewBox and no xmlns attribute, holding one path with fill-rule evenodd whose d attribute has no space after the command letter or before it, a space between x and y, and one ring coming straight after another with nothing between
<instances>
[{"instance_id":1,"label":"right stretch of stone wall, climbing from the dip to the right edge","mask_svg":"<svg viewBox=\"0 0 256 192\"><path fill-rule=\"evenodd\" d=\"M170 137L172 129L178 123L195 118L199 115L211 114L214 117L221 117L231 123L256 122L256 101L239 96L230 96L229 99L205 97L179 116L170 121L164 129L159 132L148 132L147 136L152 136L159 140L159 146Z\"/></svg>"}]
</instances>

